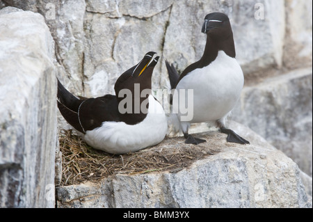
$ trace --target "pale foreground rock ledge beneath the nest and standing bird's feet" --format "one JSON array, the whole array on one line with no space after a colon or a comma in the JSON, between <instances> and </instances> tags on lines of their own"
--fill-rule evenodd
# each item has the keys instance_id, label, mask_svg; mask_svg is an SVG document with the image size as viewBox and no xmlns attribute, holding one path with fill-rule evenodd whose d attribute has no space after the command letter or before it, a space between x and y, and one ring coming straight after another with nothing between
<instances>
[{"instance_id":1,"label":"pale foreground rock ledge beneath the nest and standing bird's feet","mask_svg":"<svg viewBox=\"0 0 313 222\"><path fill-rule=\"evenodd\" d=\"M208 141L203 150L218 153L177 171L116 174L57 187L57 207L312 207L294 161L243 128L251 145L227 143L224 134L205 132L198 135ZM166 138L150 149L175 146L188 145L184 138Z\"/></svg>"}]
</instances>

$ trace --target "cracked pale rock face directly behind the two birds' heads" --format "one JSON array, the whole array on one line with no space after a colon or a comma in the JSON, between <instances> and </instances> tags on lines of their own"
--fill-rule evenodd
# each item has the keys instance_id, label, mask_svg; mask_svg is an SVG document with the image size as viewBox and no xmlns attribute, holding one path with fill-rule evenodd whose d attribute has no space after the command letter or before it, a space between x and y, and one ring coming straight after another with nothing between
<instances>
[{"instance_id":1,"label":"cracked pale rock face directly behind the two birds' heads","mask_svg":"<svg viewBox=\"0 0 313 222\"><path fill-rule=\"evenodd\" d=\"M115 79L156 51L161 60L154 70L152 88L169 86L164 59L179 72L203 53L205 35L200 27L207 13L229 15L237 59L251 72L282 65L284 1L259 1L266 19L255 19L255 1L21 1L3 0L8 6L33 10L46 17L56 41L56 58L67 88L85 96L113 93ZM55 17L47 17L54 6ZM274 10L275 9L275 10ZM262 36L262 38L259 38ZM246 49L249 50L246 50Z\"/></svg>"}]
</instances>

